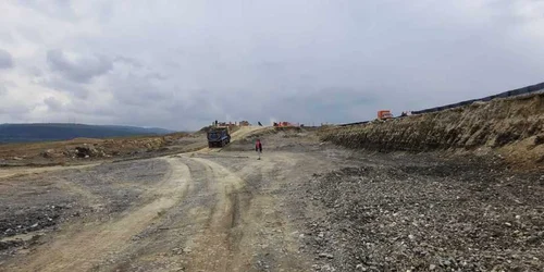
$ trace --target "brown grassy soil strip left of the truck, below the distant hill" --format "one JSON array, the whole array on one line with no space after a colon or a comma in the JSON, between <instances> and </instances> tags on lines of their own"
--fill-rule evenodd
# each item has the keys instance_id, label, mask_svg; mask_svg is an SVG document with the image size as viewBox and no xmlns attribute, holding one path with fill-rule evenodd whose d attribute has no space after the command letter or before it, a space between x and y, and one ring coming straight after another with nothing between
<instances>
[{"instance_id":1,"label":"brown grassy soil strip left of the truck, below the distant hill","mask_svg":"<svg viewBox=\"0 0 544 272\"><path fill-rule=\"evenodd\" d=\"M199 150L206 134L174 133L109 139L75 138L63 141L0 145L0 168L81 165Z\"/></svg>"}]
</instances>

